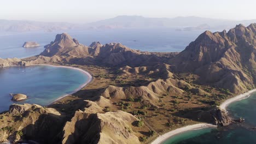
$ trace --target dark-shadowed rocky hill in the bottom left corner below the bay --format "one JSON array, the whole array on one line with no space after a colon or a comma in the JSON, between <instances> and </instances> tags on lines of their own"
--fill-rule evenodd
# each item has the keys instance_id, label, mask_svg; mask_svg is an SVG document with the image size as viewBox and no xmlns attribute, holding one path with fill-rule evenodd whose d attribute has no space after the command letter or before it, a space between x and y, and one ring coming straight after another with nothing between
<instances>
[{"instance_id":1,"label":"dark-shadowed rocky hill in the bottom left corner below the bay","mask_svg":"<svg viewBox=\"0 0 256 144\"><path fill-rule=\"evenodd\" d=\"M17 142L25 137L40 143L56 143L61 139L58 134L64 123L63 118L60 112L52 108L13 104L8 112L1 115L0 141ZM13 119L15 122L11 122ZM46 136L48 139L44 139Z\"/></svg>"}]
</instances>

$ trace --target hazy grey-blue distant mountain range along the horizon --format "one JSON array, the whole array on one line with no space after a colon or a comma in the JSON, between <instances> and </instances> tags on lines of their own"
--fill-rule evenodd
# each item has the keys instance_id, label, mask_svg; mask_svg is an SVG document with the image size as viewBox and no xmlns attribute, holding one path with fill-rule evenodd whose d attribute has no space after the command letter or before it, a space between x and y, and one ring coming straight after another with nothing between
<instances>
[{"instance_id":1,"label":"hazy grey-blue distant mountain range along the horizon","mask_svg":"<svg viewBox=\"0 0 256 144\"><path fill-rule=\"evenodd\" d=\"M0 20L0 31L62 31L68 29L115 29L115 28L176 28L179 31L195 29L230 29L241 23L249 25L255 20L224 20L188 16L174 18L151 18L143 16L117 16L90 23L37 22L21 20Z\"/></svg>"}]
</instances>

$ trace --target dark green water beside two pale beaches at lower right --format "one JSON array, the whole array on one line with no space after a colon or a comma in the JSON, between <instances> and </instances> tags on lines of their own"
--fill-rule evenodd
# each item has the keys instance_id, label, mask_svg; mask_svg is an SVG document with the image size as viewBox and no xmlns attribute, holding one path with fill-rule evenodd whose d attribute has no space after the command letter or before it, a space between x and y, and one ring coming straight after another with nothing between
<instances>
[{"instance_id":1,"label":"dark green water beside two pale beaches at lower right","mask_svg":"<svg viewBox=\"0 0 256 144\"><path fill-rule=\"evenodd\" d=\"M166 140L164 144L170 143L218 143L218 144L240 144L256 143L256 93L251 97L236 101L228 106L227 110L235 119L245 118L244 123L233 124L226 128L205 128L187 131Z\"/></svg>"}]
</instances>

